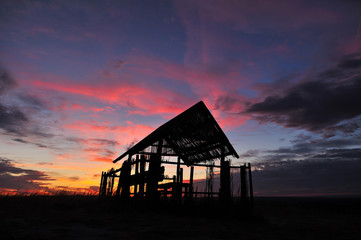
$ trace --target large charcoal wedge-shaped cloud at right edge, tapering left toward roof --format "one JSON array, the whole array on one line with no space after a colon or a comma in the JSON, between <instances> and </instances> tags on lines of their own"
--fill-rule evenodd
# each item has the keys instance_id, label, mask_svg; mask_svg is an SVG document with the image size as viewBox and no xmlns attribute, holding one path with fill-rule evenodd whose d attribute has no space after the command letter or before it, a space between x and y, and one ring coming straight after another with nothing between
<instances>
[{"instance_id":1,"label":"large charcoal wedge-shaped cloud at right edge, tapering left toward roof","mask_svg":"<svg viewBox=\"0 0 361 240\"><path fill-rule=\"evenodd\" d=\"M360 62L360 53L345 56L337 66L320 72L314 80L302 82L283 95L268 96L249 105L245 112L260 122L313 132L354 132L359 124L347 121L361 115Z\"/></svg>"}]
</instances>

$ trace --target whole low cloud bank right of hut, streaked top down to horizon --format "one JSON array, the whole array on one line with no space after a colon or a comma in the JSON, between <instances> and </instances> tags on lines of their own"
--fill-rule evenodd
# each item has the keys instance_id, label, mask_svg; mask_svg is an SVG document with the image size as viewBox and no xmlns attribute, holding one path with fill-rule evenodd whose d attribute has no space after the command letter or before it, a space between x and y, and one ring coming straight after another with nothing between
<instances>
[{"instance_id":1,"label":"whole low cloud bank right of hut, streaked top down to horizon","mask_svg":"<svg viewBox=\"0 0 361 240\"><path fill-rule=\"evenodd\" d=\"M240 156L252 163L258 195L361 195L360 142L359 132L328 139L304 133L291 146Z\"/></svg>"}]
</instances>

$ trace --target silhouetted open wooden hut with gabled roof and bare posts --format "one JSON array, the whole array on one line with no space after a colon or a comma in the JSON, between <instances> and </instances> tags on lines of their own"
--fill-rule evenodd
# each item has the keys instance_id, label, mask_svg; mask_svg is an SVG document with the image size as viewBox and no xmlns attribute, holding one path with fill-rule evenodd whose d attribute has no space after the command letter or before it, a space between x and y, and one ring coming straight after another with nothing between
<instances>
[{"instance_id":1,"label":"silhouetted open wooden hut with gabled roof and bare posts","mask_svg":"<svg viewBox=\"0 0 361 240\"><path fill-rule=\"evenodd\" d=\"M170 199L178 203L203 197L229 204L235 192L231 189L232 170L240 177L238 199L252 204L251 166L232 166L228 156L239 158L206 105L199 102L116 158L113 163L124 159L122 166L102 173L99 195L151 202ZM169 165L175 168L172 177L165 175L165 166ZM204 191L194 188L195 167L206 168ZM187 180L185 168L189 172ZM219 188L215 189L213 182L218 177ZM113 190L115 182L118 184Z\"/></svg>"}]
</instances>

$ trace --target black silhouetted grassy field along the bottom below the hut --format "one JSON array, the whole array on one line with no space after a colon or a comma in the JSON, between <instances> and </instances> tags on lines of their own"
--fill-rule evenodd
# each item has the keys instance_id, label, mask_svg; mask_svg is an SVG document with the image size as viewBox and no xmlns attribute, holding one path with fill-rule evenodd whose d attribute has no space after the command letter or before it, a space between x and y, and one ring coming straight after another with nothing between
<instances>
[{"instance_id":1,"label":"black silhouetted grassy field along the bottom below the hut","mask_svg":"<svg viewBox=\"0 0 361 240\"><path fill-rule=\"evenodd\" d=\"M94 196L0 197L0 239L361 239L360 199L256 198L240 209L144 210Z\"/></svg>"}]
</instances>

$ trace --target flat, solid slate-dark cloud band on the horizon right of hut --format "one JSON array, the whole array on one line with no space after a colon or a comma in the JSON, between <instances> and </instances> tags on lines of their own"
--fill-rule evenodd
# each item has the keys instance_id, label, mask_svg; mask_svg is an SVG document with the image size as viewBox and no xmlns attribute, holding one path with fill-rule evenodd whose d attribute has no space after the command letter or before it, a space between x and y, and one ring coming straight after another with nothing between
<instances>
[{"instance_id":1,"label":"flat, solid slate-dark cloud band on the horizon right of hut","mask_svg":"<svg viewBox=\"0 0 361 240\"><path fill-rule=\"evenodd\" d=\"M323 160L282 161L253 172L258 195L361 195L360 149L325 154ZM361 155L359 155L361 156ZM329 158L330 157L330 158Z\"/></svg>"}]
</instances>

